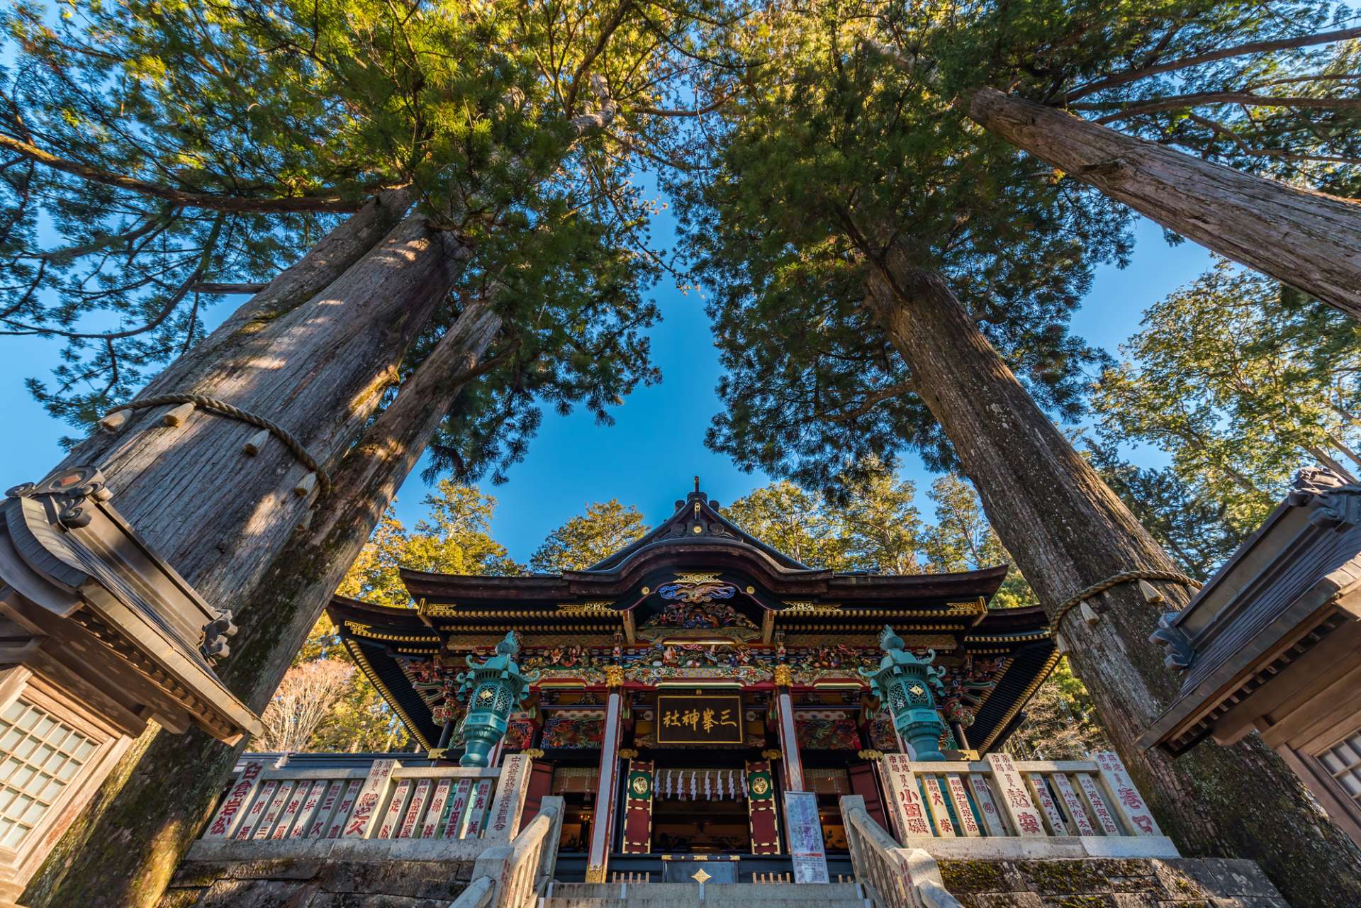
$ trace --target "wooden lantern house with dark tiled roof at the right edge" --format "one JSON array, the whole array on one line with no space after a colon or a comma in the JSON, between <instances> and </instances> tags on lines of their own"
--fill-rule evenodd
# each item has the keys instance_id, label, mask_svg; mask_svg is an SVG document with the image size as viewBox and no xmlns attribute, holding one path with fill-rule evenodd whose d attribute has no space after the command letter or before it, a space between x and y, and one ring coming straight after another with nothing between
<instances>
[{"instance_id":1,"label":"wooden lantern house with dark tiled roof at the right edge","mask_svg":"<svg viewBox=\"0 0 1361 908\"><path fill-rule=\"evenodd\" d=\"M1154 640L1181 674L1141 739L1172 754L1253 731L1361 844L1361 486L1294 489Z\"/></svg>"}]
</instances>

